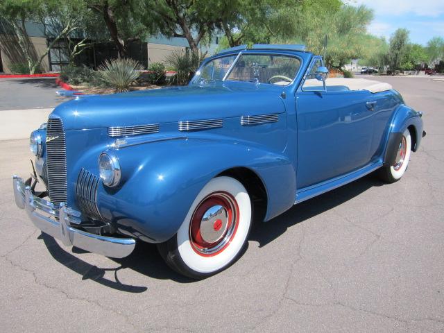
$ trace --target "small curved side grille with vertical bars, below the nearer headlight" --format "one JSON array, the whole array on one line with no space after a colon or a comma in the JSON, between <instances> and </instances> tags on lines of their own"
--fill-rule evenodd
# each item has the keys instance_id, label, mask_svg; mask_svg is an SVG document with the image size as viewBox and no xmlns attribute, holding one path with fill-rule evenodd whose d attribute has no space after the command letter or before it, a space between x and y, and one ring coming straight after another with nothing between
<instances>
[{"instance_id":1,"label":"small curved side grille with vertical bars, below the nearer headlight","mask_svg":"<svg viewBox=\"0 0 444 333\"><path fill-rule=\"evenodd\" d=\"M100 178L85 169L81 169L78 174L76 184L76 196L78 207L92 219L101 219L99 208L97 207L97 188Z\"/></svg>"}]
</instances>

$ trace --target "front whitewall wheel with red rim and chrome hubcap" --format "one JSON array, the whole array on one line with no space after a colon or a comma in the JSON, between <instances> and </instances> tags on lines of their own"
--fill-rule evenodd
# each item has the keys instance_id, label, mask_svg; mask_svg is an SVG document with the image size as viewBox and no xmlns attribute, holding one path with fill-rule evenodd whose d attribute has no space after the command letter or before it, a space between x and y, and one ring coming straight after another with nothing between
<instances>
[{"instance_id":1,"label":"front whitewall wheel with red rim and chrome hubcap","mask_svg":"<svg viewBox=\"0 0 444 333\"><path fill-rule=\"evenodd\" d=\"M200 191L177 234L157 248L178 273L207 278L237 259L251 220L251 200L244 185L231 177L216 177Z\"/></svg>"}]
</instances>

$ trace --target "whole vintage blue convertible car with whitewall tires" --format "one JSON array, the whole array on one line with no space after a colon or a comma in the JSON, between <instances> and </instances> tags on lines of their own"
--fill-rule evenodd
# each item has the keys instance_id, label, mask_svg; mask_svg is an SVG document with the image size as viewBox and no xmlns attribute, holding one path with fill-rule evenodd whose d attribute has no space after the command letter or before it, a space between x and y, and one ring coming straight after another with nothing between
<instances>
[{"instance_id":1,"label":"whole vintage blue convertible car with whitewall tires","mask_svg":"<svg viewBox=\"0 0 444 333\"><path fill-rule=\"evenodd\" d=\"M327 73L304 46L239 46L187 87L63 103L31 134L17 206L66 246L125 257L146 241L184 275L217 273L253 216L373 171L395 182L418 150L422 114L391 85Z\"/></svg>"}]
</instances>

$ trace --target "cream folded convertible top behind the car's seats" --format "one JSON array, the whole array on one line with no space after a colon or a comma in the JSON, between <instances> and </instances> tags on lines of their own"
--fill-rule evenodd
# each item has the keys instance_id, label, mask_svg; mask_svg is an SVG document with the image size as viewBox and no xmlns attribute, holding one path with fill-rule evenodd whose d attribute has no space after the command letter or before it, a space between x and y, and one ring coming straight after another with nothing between
<instances>
[{"instance_id":1,"label":"cream folded convertible top behind the car's seats","mask_svg":"<svg viewBox=\"0 0 444 333\"><path fill-rule=\"evenodd\" d=\"M327 85L327 90L329 86L344 86L348 87L350 90L368 90L372 93L385 92L393 89L388 83L367 80L365 78L327 78L325 84ZM323 83L320 80L316 80L316 78L305 80L304 84L305 87L317 87L322 85Z\"/></svg>"}]
</instances>

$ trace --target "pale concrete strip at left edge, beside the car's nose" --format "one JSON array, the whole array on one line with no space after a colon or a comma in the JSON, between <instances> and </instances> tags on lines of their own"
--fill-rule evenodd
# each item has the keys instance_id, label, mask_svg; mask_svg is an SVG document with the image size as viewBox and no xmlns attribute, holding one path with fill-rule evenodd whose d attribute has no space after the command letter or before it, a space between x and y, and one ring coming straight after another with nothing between
<instances>
[{"instance_id":1,"label":"pale concrete strip at left edge, beside the car's nose","mask_svg":"<svg viewBox=\"0 0 444 333\"><path fill-rule=\"evenodd\" d=\"M33 130L47 121L53 110L49 108L0 111L0 141L28 138Z\"/></svg>"}]
</instances>

